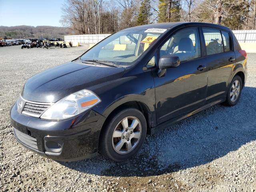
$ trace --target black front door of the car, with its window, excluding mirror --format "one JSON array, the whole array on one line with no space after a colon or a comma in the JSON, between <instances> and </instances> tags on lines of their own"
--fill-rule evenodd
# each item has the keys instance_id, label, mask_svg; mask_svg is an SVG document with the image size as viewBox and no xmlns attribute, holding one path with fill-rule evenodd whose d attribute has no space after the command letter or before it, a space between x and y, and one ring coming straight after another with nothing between
<instances>
[{"instance_id":1,"label":"black front door of the car, with its window, excluding mirror","mask_svg":"<svg viewBox=\"0 0 256 192\"><path fill-rule=\"evenodd\" d=\"M154 75L158 124L205 104L208 68L201 49L197 27L179 30L159 47L158 58L179 56L180 65L163 77Z\"/></svg>"}]
</instances>

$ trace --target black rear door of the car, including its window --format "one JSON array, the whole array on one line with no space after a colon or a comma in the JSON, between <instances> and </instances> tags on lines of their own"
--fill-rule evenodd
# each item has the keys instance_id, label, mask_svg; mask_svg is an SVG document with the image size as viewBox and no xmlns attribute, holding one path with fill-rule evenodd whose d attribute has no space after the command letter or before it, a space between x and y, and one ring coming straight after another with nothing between
<instances>
[{"instance_id":1,"label":"black rear door of the car, including its window","mask_svg":"<svg viewBox=\"0 0 256 192\"><path fill-rule=\"evenodd\" d=\"M230 33L214 28L202 28L208 64L206 102L226 96L228 84L234 74L236 55L232 49Z\"/></svg>"}]
</instances>

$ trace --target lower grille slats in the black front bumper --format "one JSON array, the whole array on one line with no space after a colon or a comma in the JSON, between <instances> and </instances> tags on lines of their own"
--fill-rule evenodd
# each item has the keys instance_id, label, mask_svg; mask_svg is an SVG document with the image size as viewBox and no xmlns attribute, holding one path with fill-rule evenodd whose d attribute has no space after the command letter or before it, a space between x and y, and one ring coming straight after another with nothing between
<instances>
[{"instance_id":1,"label":"lower grille slats in the black front bumper","mask_svg":"<svg viewBox=\"0 0 256 192\"><path fill-rule=\"evenodd\" d=\"M20 132L16 128L14 128L14 135L16 136L18 141L20 141L24 145L38 150L36 138L34 138L32 136L29 136L29 135L27 135L25 133Z\"/></svg>"}]
</instances>

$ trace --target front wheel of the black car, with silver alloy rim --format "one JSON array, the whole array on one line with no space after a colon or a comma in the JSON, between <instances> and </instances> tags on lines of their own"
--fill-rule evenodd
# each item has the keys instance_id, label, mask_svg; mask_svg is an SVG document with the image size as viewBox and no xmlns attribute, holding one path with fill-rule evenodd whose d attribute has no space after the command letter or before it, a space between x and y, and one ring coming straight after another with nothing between
<instances>
[{"instance_id":1,"label":"front wheel of the black car, with silver alloy rim","mask_svg":"<svg viewBox=\"0 0 256 192\"><path fill-rule=\"evenodd\" d=\"M134 129L131 127L133 123L136 124ZM127 125L128 128L124 128ZM122 162L134 156L142 147L147 123L142 112L127 108L112 115L103 128L99 141L100 153L113 161Z\"/></svg>"}]
</instances>

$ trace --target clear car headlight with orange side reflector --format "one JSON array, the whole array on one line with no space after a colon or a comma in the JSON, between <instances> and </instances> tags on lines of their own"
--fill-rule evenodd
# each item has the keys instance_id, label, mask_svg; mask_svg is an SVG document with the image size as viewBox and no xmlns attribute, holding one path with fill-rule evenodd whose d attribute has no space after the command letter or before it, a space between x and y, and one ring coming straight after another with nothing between
<instances>
[{"instance_id":1,"label":"clear car headlight with orange side reflector","mask_svg":"<svg viewBox=\"0 0 256 192\"><path fill-rule=\"evenodd\" d=\"M89 90L81 90L66 96L50 106L40 118L63 120L76 116L101 102L100 98Z\"/></svg>"}]
</instances>

